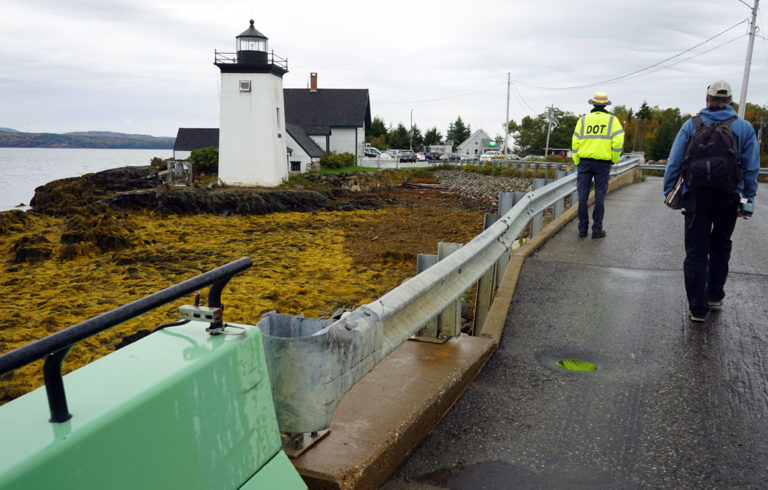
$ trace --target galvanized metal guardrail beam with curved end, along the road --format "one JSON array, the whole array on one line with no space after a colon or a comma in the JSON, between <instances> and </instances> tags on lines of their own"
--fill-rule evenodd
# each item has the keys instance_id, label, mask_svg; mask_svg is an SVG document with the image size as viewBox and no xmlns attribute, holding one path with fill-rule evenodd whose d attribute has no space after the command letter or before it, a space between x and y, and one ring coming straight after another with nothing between
<instances>
[{"instance_id":1,"label":"galvanized metal guardrail beam with curved end, along the road","mask_svg":"<svg viewBox=\"0 0 768 490\"><path fill-rule=\"evenodd\" d=\"M622 159L615 177L639 164ZM526 194L483 233L424 272L328 325L267 314L259 328L282 432L329 427L344 394L397 346L470 289L508 254L534 216L576 191L570 174Z\"/></svg>"}]
</instances>

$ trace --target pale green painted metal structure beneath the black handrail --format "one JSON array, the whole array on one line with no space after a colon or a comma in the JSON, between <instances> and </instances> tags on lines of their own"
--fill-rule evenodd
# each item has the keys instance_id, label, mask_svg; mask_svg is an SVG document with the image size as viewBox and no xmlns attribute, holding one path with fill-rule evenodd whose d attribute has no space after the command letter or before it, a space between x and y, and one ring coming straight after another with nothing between
<instances>
[{"instance_id":1,"label":"pale green painted metal structure beneath the black handrail","mask_svg":"<svg viewBox=\"0 0 768 490\"><path fill-rule=\"evenodd\" d=\"M284 452L261 332L168 327L0 407L0 489L306 488Z\"/></svg>"}]
</instances>

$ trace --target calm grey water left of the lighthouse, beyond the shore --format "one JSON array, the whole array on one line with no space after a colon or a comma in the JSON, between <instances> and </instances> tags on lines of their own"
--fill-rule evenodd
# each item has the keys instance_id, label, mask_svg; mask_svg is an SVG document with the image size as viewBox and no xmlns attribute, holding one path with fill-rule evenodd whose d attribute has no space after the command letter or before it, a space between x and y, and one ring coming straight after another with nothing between
<instances>
[{"instance_id":1,"label":"calm grey water left of the lighthouse, beyond the shore","mask_svg":"<svg viewBox=\"0 0 768 490\"><path fill-rule=\"evenodd\" d=\"M29 206L35 188L56 179L125 166L149 165L172 150L90 148L0 148L0 211ZM20 209L28 209L22 207Z\"/></svg>"}]
</instances>

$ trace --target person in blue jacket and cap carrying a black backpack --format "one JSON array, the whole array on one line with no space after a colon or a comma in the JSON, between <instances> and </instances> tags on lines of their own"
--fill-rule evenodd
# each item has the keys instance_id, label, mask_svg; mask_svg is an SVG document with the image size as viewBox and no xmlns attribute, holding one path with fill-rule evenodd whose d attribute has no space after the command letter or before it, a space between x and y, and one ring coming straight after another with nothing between
<instances>
[{"instance_id":1,"label":"person in blue jacket and cap carrying a black backpack","mask_svg":"<svg viewBox=\"0 0 768 490\"><path fill-rule=\"evenodd\" d=\"M683 275L688 316L695 322L703 322L711 307L723 305L736 218L754 212L757 138L731 102L727 82L707 87L707 107L680 128L664 171L667 205L684 208ZM677 190L679 202L672 200Z\"/></svg>"}]
</instances>

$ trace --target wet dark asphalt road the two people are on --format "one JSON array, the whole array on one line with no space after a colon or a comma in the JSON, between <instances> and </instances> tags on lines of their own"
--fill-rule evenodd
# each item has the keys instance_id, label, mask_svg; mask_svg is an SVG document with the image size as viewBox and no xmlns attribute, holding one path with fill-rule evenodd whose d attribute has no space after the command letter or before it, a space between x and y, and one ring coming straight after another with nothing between
<instances>
[{"instance_id":1,"label":"wet dark asphalt road the two people are on","mask_svg":"<svg viewBox=\"0 0 768 490\"><path fill-rule=\"evenodd\" d=\"M496 354L383 488L766 488L764 196L703 324L660 178L608 195L604 239L571 222L526 260Z\"/></svg>"}]
</instances>

